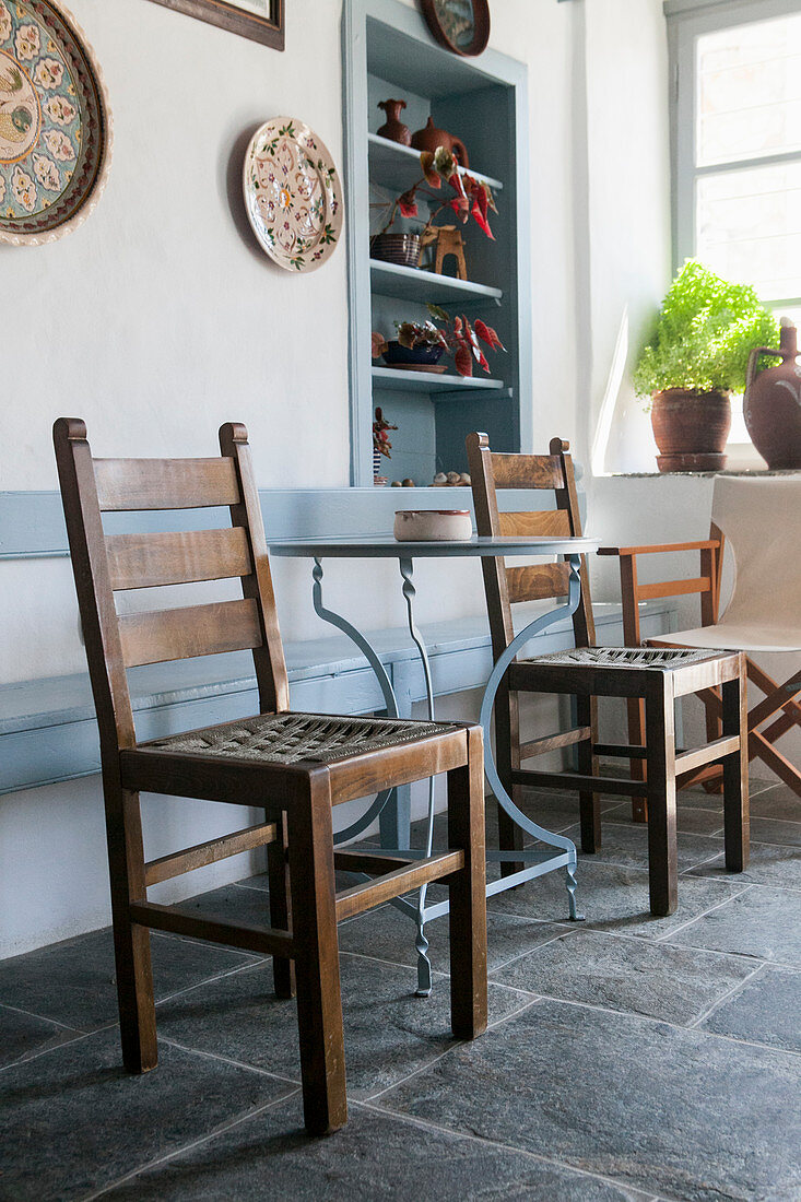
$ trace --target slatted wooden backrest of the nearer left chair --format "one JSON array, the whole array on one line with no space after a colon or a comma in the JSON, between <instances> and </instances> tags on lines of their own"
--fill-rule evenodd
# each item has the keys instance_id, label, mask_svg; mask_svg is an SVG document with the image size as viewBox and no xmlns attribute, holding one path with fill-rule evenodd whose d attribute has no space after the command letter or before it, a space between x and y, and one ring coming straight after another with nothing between
<instances>
[{"instance_id":1,"label":"slatted wooden backrest of the nearer left chair","mask_svg":"<svg viewBox=\"0 0 801 1202\"><path fill-rule=\"evenodd\" d=\"M262 713L289 708L267 545L248 432L220 428L214 459L93 459L87 427L53 427L101 752L134 746L126 668L165 660L253 650ZM108 535L112 511L227 506L231 525L214 530ZM239 577L242 599L118 614L114 593Z\"/></svg>"}]
</instances>

